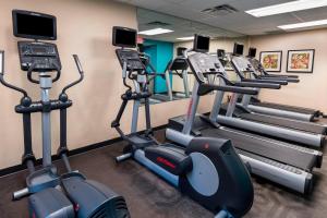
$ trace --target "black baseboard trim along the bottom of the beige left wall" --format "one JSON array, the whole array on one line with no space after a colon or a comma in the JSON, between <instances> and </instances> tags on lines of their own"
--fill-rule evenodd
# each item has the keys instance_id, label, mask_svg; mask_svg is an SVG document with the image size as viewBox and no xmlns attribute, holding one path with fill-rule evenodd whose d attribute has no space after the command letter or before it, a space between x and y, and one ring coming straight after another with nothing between
<instances>
[{"instance_id":1,"label":"black baseboard trim along the bottom of the beige left wall","mask_svg":"<svg viewBox=\"0 0 327 218\"><path fill-rule=\"evenodd\" d=\"M162 129L166 129L166 128L167 128L167 124L156 126L153 130L158 131L158 130L162 130ZM142 133L144 133L144 131L140 131L138 133L142 134ZM76 149L72 149L72 150L69 152L69 157L74 156L74 155L81 155L81 154L84 154L84 153L87 153L87 152L90 152L90 150L94 150L94 149L98 149L98 148L101 148L101 147L107 147L107 146L110 146L110 145L112 145L114 143L118 143L118 142L121 142L121 141L123 141L121 137L114 137L114 138L108 140L108 141L104 141L104 142L86 145L86 146L83 146L83 147L80 147L80 148L76 148ZM57 155L52 155L52 161L56 161L56 160L59 160L59 159L60 159L60 157L58 157ZM35 166L39 166L39 165L41 165L41 162L43 162L43 159L39 158L39 159L36 160ZM0 170L0 177L12 174L12 173L25 170L25 169L27 169L27 168L24 165L15 165L15 166L12 166L12 167L8 167L8 168L4 168L4 169Z\"/></svg>"}]
</instances>

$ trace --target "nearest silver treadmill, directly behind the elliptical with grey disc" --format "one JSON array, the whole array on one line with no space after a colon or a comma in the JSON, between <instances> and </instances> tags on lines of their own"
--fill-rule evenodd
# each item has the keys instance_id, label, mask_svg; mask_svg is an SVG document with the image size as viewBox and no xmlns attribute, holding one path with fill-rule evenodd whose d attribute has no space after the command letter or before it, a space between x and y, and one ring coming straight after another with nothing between
<instances>
[{"instance_id":1,"label":"nearest silver treadmill, directly behind the elliptical with grey disc","mask_svg":"<svg viewBox=\"0 0 327 218\"><path fill-rule=\"evenodd\" d=\"M187 138L194 136L231 140L242 160L251 166L253 174L308 195L314 182L312 170L322 166L323 154L320 152L219 123L218 114L225 92L255 95L256 89L250 93L240 89L240 86L272 88L276 84L232 83L225 77L225 69L217 57L210 56L208 50L209 37L195 35L194 48L185 52L196 78L187 112L185 116L169 119L166 137L185 147L189 146ZM208 83L205 74L215 74L220 78L219 86L227 84L234 89L219 89L219 86ZM213 90L216 90L216 96L210 114L197 114L199 98Z\"/></svg>"}]
</instances>

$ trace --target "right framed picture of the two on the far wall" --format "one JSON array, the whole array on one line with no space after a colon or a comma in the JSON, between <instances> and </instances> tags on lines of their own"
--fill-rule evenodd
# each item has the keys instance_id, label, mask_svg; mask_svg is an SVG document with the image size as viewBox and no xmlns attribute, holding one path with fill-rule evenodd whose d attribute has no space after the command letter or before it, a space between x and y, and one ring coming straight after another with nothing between
<instances>
[{"instance_id":1,"label":"right framed picture of the two on the far wall","mask_svg":"<svg viewBox=\"0 0 327 218\"><path fill-rule=\"evenodd\" d=\"M312 73L314 66L314 49L289 50L287 72Z\"/></svg>"}]
</instances>

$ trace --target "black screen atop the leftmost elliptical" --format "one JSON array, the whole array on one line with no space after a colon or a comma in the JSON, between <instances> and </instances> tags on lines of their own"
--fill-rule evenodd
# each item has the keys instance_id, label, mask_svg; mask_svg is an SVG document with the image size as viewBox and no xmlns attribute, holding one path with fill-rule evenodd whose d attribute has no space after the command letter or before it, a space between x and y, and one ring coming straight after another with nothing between
<instances>
[{"instance_id":1,"label":"black screen atop the leftmost elliptical","mask_svg":"<svg viewBox=\"0 0 327 218\"><path fill-rule=\"evenodd\" d=\"M31 11L12 11L14 36L32 39L57 39L56 17Z\"/></svg>"}]
</instances>

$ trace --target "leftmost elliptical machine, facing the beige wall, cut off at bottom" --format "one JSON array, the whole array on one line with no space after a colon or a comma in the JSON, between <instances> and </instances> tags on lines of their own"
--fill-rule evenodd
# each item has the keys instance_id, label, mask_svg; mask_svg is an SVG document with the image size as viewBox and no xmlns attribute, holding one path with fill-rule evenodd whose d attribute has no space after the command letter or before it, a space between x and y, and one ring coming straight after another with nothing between
<instances>
[{"instance_id":1,"label":"leftmost elliptical machine, facing the beige wall, cut off at bottom","mask_svg":"<svg viewBox=\"0 0 327 218\"><path fill-rule=\"evenodd\" d=\"M28 196L29 214L33 218L125 218L129 210L123 197L96 181L87 180L82 173L72 171L68 159L66 146L66 109L72 106L66 92L82 82L84 72L78 57L74 61L80 78L66 85L58 99L50 99L52 83L61 75L61 62L57 46L37 39L56 40L56 17L37 12L13 10L14 35L35 40L19 41L21 69L27 72L29 82L40 86L41 99L33 101L27 92L4 81L4 51L0 52L2 85L21 94L23 98L15 111L23 116L24 155L23 165L29 171L26 187L13 193L13 199ZM56 74L55 74L56 73ZM51 76L55 75L55 76ZM52 111L60 111L60 147L66 173L59 175L51 161L51 123ZM35 156L32 148L32 113L41 113L43 166L35 169Z\"/></svg>"}]
</instances>

